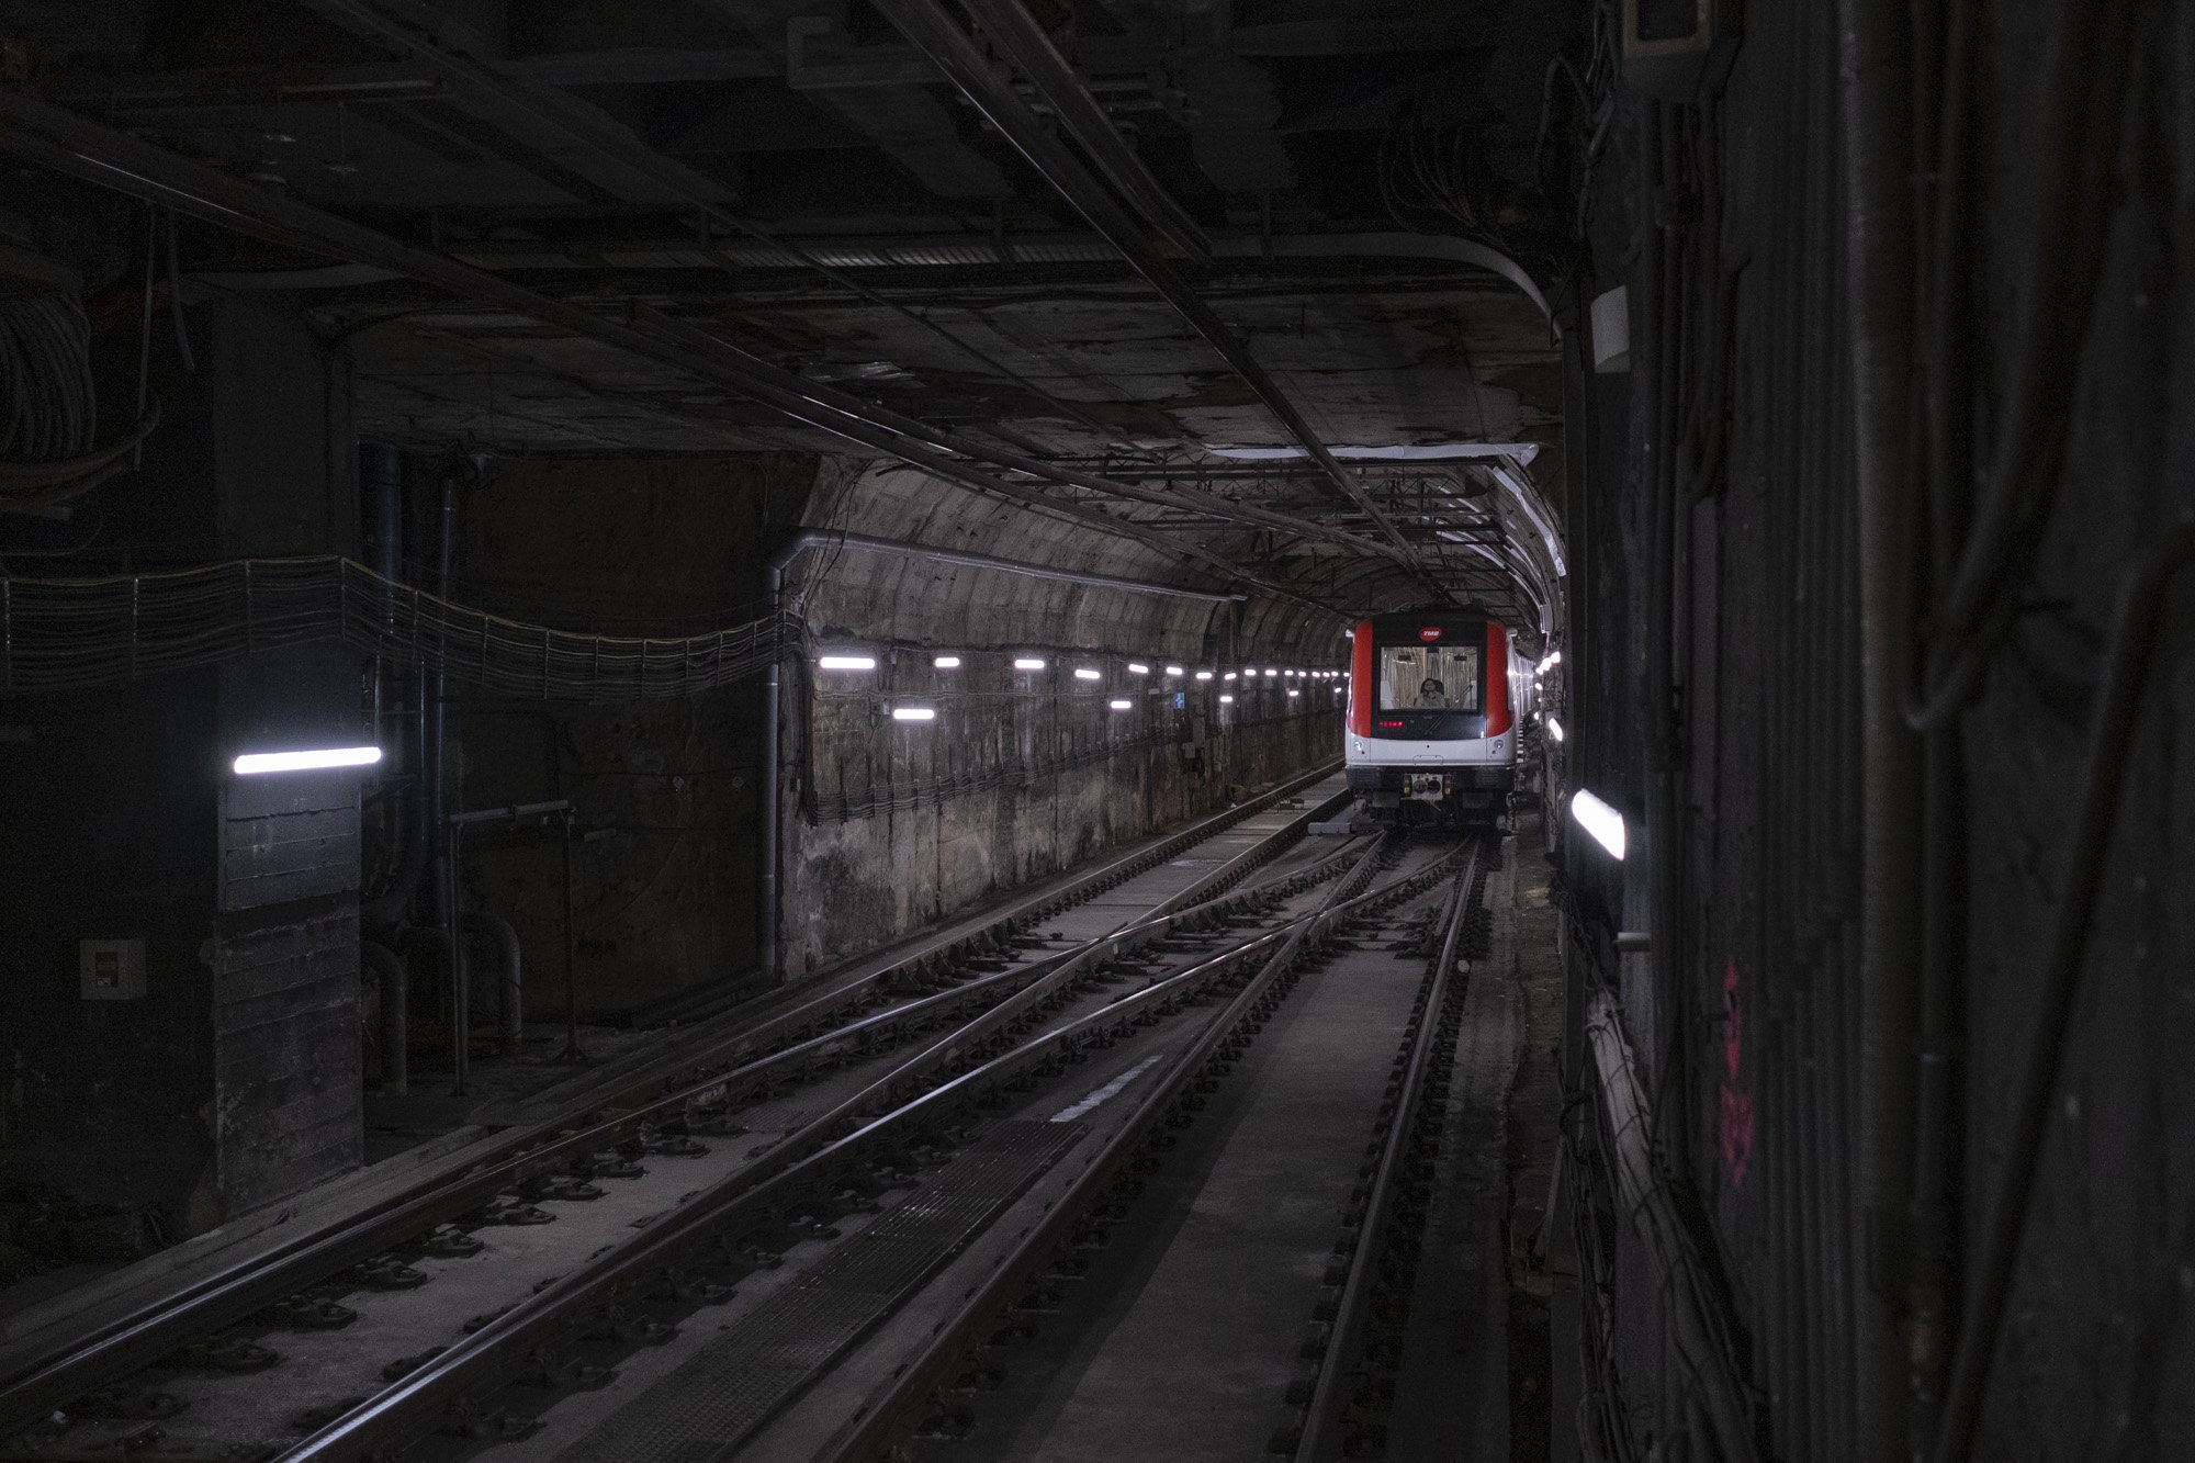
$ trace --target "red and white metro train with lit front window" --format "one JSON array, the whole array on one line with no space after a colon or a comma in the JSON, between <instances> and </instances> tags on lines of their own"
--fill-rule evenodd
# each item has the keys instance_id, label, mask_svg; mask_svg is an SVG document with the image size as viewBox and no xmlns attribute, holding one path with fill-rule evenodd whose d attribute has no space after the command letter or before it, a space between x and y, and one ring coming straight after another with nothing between
<instances>
[{"instance_id":1,"label":"red and white metro train with lit front window","mask_svg":"<svg viewBox=\"0 0 2195 1463\"><path fill-rule=\"evenodd\" d=\"M1427 608L1350 630L1348 786L1378 822L1493 819L1517 782L1517 714L1530 696L1508 626Z\"/></svg>"}]
</instances>

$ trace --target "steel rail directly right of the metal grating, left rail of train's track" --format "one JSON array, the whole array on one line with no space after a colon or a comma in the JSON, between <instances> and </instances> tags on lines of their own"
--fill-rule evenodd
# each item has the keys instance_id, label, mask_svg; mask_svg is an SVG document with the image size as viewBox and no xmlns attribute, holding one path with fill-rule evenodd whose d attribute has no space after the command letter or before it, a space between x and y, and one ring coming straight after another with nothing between
<instances>
[{"instance_id":1,"label":"steel rail directly right of the metal grating, left rail of train's track","mask_svg":"<svg viewBox=\"0 0 2195 1463\"><path fill-rule=\"evenodd\" d=\"M1372 848L1363 865L1317 912L1293 920L1286 931L1277 931L1286 934L1280 949L1271 951L1227 1008L1205 1026L1205 1035L1192 1041L1168 1074L1135 1105L1115 1136L1106 1140L1104 1149L1087 1160L1073 1186L1047 1208L1045 1217L1029 1228L1012 1252L997 1261L990 1278L968 1296L950 1320L931 1333L931 1340L915 1358L893 1373L893 1382L885 1393L865 1404L856 1419L838 1430L819 1454L819 1463L874 1463L876 1459L893 1456L891 1450L913 1426L920 1408L961 1371L964 1360L981 1349L983 1338L997 1327L997 1318L1010 1311L1027 1283L1069 1243L1076 1226L1104 1197L1117 1173L1133 1160L1141 1140L1190 1096L1194 1081L1214 1072L1214 1068L1223 1070L1223 1063L1229 1061L1223 1046L1245 1041L1240 1028L1258 1019L1260 1004L1269 999L1273 984L1295 967L1306 949L1319 947L1335 925L1348 918L1411 898L1431 887L1431 883L1451 872L1460 852L1464 850L1451 850L1427 868L1414 870L1378 890L1363 892L1363 881L1370 879L1372 865L1381 855L1381 848ZM1350 892L1352 883L1357 892ZM1273 938L1267 936L1247 945L1245 951L1262 949Z\"/></svg>"}]
</instances>

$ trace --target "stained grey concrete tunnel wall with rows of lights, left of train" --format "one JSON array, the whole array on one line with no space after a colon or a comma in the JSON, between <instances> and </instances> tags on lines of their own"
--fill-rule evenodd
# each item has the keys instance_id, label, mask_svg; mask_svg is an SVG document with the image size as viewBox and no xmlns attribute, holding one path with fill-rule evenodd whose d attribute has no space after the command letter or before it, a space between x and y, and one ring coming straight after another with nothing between
<instances>
[{"instance_id":1,"label":"stained grey concrete tunnel wall with rows of lights, left of train","mask_svg":"<svg viewBox=\"0 0 2195 1463\"><path fill-rule=\"evenodd\" d=\"M904 468L825 461L806 523L1209 587L1155 547ZM1275 690L1271 705L1214 705L1198 727L1192 712L1146 710L1139 681L1126 679L1130 657L1155 670L1168 659L1339 666L1341 622L1297 604L1185 600L858 549L810 551L786 587L812 637L810 655L788 668L784 707L788 978L1339 756L1330 692L1326 705L1308 690L1293 701ZM832 644L874 650L874 677L814 672L814 652ZM1016 677L1008 652L1023 648L1047 659L1078 650L1106 681L1078 690L1067 666ZM937 672L937 650L966 663ZM1124 688L1137 712L1108 712ZM939 721L896 725L893 701L933 703Z\"/></svg>"}]
</instances>

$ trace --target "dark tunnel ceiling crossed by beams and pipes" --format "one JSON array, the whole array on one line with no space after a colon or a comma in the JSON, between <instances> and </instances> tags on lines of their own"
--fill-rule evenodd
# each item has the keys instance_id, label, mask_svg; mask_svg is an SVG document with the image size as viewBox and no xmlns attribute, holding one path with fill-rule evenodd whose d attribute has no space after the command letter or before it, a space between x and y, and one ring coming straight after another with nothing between
<instances>
[{"instance_id":1,"label":"dark tunnel ceiling crossed by beams and pipes","mask_svg":"<svg viewBox=\"0 0 2195 1463\"><path fill-rule=\"evenodd\" d=\"M29 0L11 90L182 169L132 178L140 198L213 169L689 351L731 345L948 435L946 464L990 455L979 490L1163 549L1183 580L1545 624L1561 365L1541 290L1569 231L1543 132L1578 7L1001 4ZM26 125L0 116L0 143ZM1045 147L1065 165L1038 167ZM61 171L114 187L123 154L86 152ZM1095 178L1098 206L1062 174ZM125 286L127 231L55 237L44 198L0 231ZM691 360L182 213L182 275L292 294L340 340L364 433L878 457Z\"/></svg>"}]
</instances>

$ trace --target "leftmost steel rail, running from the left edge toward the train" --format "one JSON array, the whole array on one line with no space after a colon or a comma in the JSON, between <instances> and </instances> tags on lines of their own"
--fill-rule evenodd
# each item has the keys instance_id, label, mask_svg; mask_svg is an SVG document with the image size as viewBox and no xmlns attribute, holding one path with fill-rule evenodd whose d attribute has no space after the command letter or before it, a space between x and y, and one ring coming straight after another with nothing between
<instances>
[{"instance_id":1,"label":"leftmost steel rail, running from the left edge toward the train","mask_svg":"<svg viewBox=\"0 0 2195 1463\"><path fill-rule=\"evenodd\" d=\"M863 975L858 982L849 982L838 991L803 1002L757 1028L738 1032L735 1037L707 1048L700 1054L685 1052L676 1065L656 1063L617 1079L615 1085L604 1085L586 1092L584 1096L575 1096L562 1114L538 1120L525 1131L500 1140L494 1153L481 1155L459 1173L435 1175L432 1180L391 1195L362 1215L347 1217L336 1226L309 1235L299 1235L268 1254L239 1261L237 1265L206 1276L173 1296L165 1296L154 1305L140 1307L130 1316L97 1329L90 1336L77 1338L72 1340L70 1351L61 1358L26 1366L13 1377L0 1382L0 1437L11 1437L37 1419L64 1408L75 1397L156 1362L160 1355L173 1351L182 1340L235 1325L237 1320L244 1320L246 1316L252 1316L329 1274L373 1259L391 1246L432 1232L439 1224L448 1224L465 1213L472 1213L496 1195L540 1177L547 1171L560 1169L573 1158L615 1147L643 1127L687 1116L696 1107L731 1101L735 1085L744 1083L744 1087L753 1090L755 1085L779 1076L786 1065L817 1061L832 1054L838 1046L858 1046L863 1039L874 1037L889 1024L909 1021L915 1010L950 1013L953 1004L957 999L966 999L968 991L981 982L970 982L968 986L944 991L933 997L920 997L907 1006L856 1019L849 1026L810 1035L817 1032L819 1026L843 1019L849 1010L858 1013L874 999L876 991L889 986L891 982L902 978L928 978L944 971L955 958L966 958L972 951L997 949L1001 931L1021 929L1032 920L1045 918L1047 914L1056 914L1062 907L1071 907L1098 892L1115 887L1117 883L1172 859L1183 848L1216 837L1245 817L1251 817L1328 775L1332 775L1332 769L1321 767L1258 800L1245 802L1238 808L1207 817L1181 830L1177 837L1115 859L1095 870L1091 876L1076 881L1067 890L1047 890L1029 898L1018 898L1005 905L977 931L955 934L920 947L909 956ZM1220 868L1194 881L1187 890L1155 905L1152 912L1141 916L1133 929L1141 929L1144 938L1161 938L1177 920L1216 916L1218 912L1212 909L1212 905L1229 905L1234 898L1262 898L1258 890L1225 898L1209 896L1214 890L1229 887L1238 879L1256 872L1262 863L1277 857L1282 848L1291 846L1302 835L1310 819L1339 804L1343 797L1346 793L1319 804L1317 808L1306 808L1271 837L1260 839L1258 846L1236 855ZM1119 936L1126 934L1128 931L1124 929L1111 936L1100 936L1100 940L1119 940ZM1076 951L1062 951L1047 960L1038 960L1034 967L1025 967L1023 971L1005 971L1001 975L1027 978L1036 971L1034 978L1040 980L1058 964L1073 960L1073 956ZM766 1052L777 1041L790 1041L790 1046L757 1057L757 1052ZM722 1061L733 1070L705 1072L705 1068L713 1061ZM665 1065L669 1065L669 1072ZM630 1112L621 1112L615 1118L579 1118L577 1125L573 1123L573 1114L586 1114L630 1101L639 1101L641 1105ZM779 1162L775 1166L784 1164ZM742 1173L753 1175L755 1171L746 1169Z\"/></svg>"}]
</instances>

